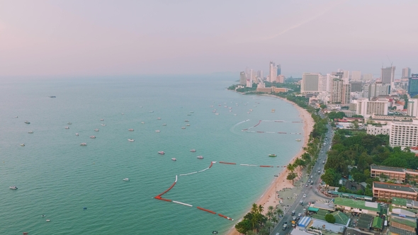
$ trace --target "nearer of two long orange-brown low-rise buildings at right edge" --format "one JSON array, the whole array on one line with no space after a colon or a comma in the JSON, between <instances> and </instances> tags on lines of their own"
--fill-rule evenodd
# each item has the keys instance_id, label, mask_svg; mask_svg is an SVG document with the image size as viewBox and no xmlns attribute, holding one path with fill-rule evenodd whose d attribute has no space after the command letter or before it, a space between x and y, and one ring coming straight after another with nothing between
<instances>
[{"instance_id":1,"label":"nearer of two long orange-brown low-rise buildings at right edge","mask_svg":"<svg viewBox=\"0 0 418 235\"><path fill-rule=\"evenodd\" d=\"M391 200L392 197L417 200L417 195L417 191L410 185L373 182L373 197L378 200Z\"/></svg>"}]
</instances>

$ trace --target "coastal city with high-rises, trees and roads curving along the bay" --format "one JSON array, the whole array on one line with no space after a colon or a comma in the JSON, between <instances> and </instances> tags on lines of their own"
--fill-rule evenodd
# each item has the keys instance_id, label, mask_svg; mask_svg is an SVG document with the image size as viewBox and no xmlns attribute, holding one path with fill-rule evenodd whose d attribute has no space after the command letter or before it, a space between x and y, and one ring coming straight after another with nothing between
<instances>
[{"instance_id":1,"label":"coastal city with high-rises, trees and roads curving along the bay","mask_svg":"<svg viewBox=\"0 0 418 235\"><path fill-rule=\"evenodd\" d=\"M294 79L270 62L266 77L241 72L228 89L286 98L315 125L304 154L287 166L294 188L276 192L276 207L254 204L235 225L240 234L417 234L418 74L380 71Z\"/></svg>"}]
</instances>

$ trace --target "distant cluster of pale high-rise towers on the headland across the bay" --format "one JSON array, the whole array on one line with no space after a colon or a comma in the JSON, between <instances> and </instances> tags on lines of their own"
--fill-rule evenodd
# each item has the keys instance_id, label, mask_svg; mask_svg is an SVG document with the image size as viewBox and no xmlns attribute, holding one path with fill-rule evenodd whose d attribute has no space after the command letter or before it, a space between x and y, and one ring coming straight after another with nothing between
<instances>
[{"instance_id":1,"label":"distant cluster of pale high-rise towers on the headland across the bay","mask_svg":"<svg viewBox=\"0 0 418 235\"><path fill-rule=\"evenodd\" d=\"M245 69L239 74L239 84L247 87L252 87L253 84L263 84L264 81L283 83L285 76L281 74L281 64L276 65L274 62L269 64L269 74L264 77L264 71L253 69Z\"/></svg>"}]
</instances>

